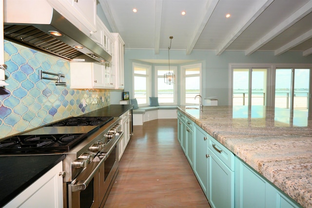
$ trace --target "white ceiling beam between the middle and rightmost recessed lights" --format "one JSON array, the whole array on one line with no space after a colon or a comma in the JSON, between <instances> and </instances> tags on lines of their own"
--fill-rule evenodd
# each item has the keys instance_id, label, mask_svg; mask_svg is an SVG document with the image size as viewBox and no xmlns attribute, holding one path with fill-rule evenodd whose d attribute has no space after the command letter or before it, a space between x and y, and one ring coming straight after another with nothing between
<instances>
[{"instance_id":1,"label":"white ceiling beam between the middle and rightmost recessed lights","mask_svg":"<svg viewBox=\"0 0 312 208\"><path fill-rule=\"evenodd\" d=\"M197 27L193 33L193 36L191 38L191 42L186 48L186 55L190 55L195 47L195 44L200 36L200 34L203 32L208 20L210 19L211 15L213 14L215 7L217 5L219 0L210 0L208 1L206 5L206 13L203 15L202 19L200 19L199 23L197 24Z\"/></svg>"}]
</instances>

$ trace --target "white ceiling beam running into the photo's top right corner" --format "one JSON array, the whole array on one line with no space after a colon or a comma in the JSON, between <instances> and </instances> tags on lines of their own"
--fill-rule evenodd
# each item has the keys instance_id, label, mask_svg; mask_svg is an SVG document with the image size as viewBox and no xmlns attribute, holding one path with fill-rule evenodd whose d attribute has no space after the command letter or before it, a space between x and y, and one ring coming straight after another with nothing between
<instances>
[{"instance_id":1,"label":"white ceiling beam running into the photo's top right corner","mask_svg":"<svg viewBox=\"0 0 312 208\"><path fill-rule=\"evenodd\" d=\"M294 12L289 18L285 19L279 25L277 25L273 30L267 33L264 37L260 38L254 45L246 50L245 55L251 55L256 50L270 42L273 38L277 37L279 34L290 28L297 21L312 12L312 0L303 5L300 9Z\"/></svg>"}]
</instances>

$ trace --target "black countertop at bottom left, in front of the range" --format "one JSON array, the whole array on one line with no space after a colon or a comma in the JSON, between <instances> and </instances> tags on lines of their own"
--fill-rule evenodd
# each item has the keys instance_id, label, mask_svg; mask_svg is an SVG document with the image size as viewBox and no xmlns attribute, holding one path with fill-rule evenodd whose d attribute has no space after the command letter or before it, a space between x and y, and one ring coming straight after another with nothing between
<instances>
[{"instance_id":1,"label":"black countertop at bottom left, in front of the range","mask_svg":"<svg viewBox=\"0 0 312 208\"><path fill-rule=\"evenodd\" d=\"M0 207L64 158L63 154L0 156Z\"/></svg>"}]
</instances>

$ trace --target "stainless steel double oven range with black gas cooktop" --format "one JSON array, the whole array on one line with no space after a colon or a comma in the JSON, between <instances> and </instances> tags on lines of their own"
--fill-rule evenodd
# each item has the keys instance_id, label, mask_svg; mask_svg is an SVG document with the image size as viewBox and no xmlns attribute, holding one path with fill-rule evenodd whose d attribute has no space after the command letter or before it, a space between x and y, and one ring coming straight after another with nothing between
<instances>
[{"instance_id":1,"label":"stainless steel double oven range with black gas cooktop","mask_svg":"<svg viewBox=\"0 0 312 208\"><path fill-rule=\"evenodd\" d=\"M118 173L121 118L71 117L1 141L0 153L63 153L65 208L102 208Z\"/></svg>"}]
</instances>

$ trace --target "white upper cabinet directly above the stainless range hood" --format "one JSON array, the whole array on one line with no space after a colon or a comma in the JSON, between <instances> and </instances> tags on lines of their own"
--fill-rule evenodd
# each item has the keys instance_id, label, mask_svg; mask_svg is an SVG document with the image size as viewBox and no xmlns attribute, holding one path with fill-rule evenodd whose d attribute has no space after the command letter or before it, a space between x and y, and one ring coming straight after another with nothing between
<instances>
[{"instance_id":1,"label":"white upper cabinet directly above the stainless range hood","mask_svg":"<svg viewBox=\"0 0 312 208\"><path fill-rule=\"evenodd\" d=\"M97 0L47 0L85 34L97 31Z\"/></svg>"}]
</instances>

